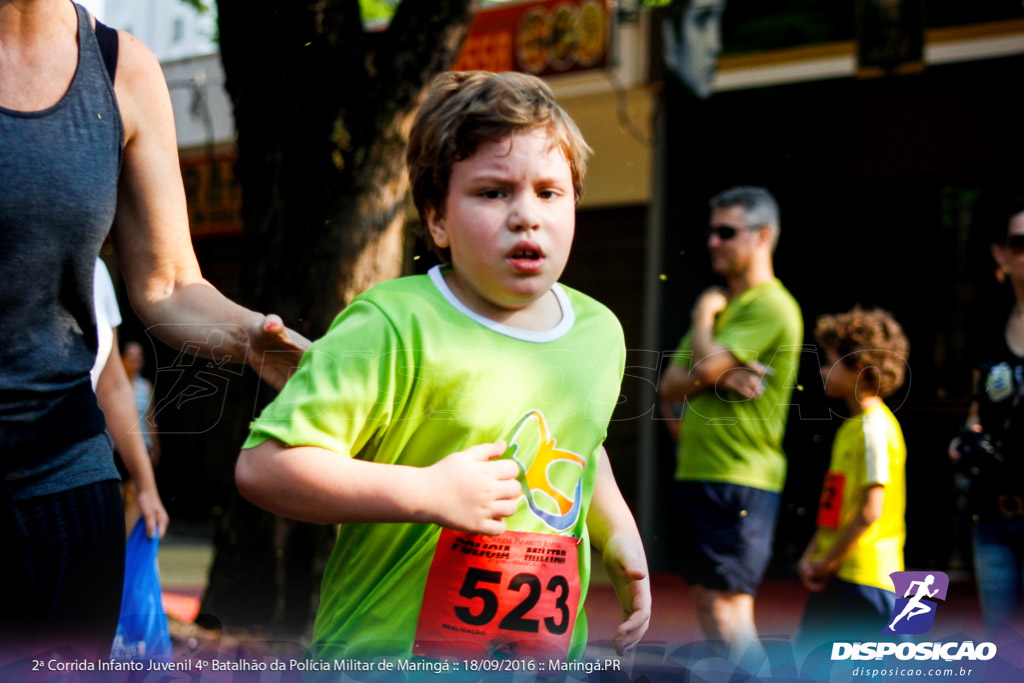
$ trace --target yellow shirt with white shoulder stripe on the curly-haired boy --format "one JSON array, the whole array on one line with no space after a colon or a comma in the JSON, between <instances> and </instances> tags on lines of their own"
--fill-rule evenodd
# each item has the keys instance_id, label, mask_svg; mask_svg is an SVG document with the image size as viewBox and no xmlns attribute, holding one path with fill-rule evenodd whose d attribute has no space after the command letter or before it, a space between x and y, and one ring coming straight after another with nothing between
<instances>
[{"instance_id":1,"label":"yellow shirt with white shoulder stripe on the curly-haired boy","mask_svg":"<svg viewBox=\"0 0 1024 683\"><path fill-rule=\"evenodd\" d=\"M893 590L889 574L903 570L906 542L906 444L884 403L847 420L836 432L831 463L818 506L818 557L857 515L861 492L885 486L882 516L857 540L837 575L853 584Z\"/></svg>"}]
</instances>

